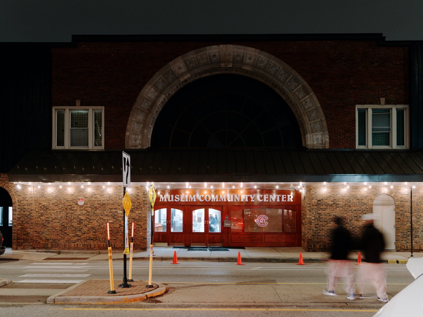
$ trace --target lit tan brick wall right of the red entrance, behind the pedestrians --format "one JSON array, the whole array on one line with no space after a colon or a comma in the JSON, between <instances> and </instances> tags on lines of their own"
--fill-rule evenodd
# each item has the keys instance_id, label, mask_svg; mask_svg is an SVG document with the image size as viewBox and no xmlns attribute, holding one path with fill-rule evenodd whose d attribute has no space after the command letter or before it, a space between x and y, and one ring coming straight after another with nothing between
<instances>
[{"instance_id":1,"label":"lit tan brick wall right of the red entrance, behind the pedestrians","mask_svg":"<svg viewBox=\"0 0 423 317\"><path fill-rule=\"evenodd\" d=\"M324 188L327 190L324 191ZM365 188L367 190L365 191ZM395 202L396 250L410 251L410 187L372 186L307 186L302 195L302 246L308 251L323 251L330 248L334 216L343 216L345 226L359 239L363 232L360 217L373 212L374 199L388 194ZM423 187L413 191L413 251L423 251Z\"/></svg>"}]
</instances>

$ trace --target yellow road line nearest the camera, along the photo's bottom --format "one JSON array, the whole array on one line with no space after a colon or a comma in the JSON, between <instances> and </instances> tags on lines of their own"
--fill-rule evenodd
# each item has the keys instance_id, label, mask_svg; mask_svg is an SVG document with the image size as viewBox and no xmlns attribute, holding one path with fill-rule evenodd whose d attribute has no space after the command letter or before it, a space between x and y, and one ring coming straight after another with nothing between
<instances>
[{"instance_id":1,"label":"yellow road line nearest the camera, along the photo's bottom","mask_svg":"<svg viewBox=\"0 0 423 317\"><path fill-rule=\"evenodd\" d=\"M53 309L52 309L53 310ZM54 309L56 310L56 309ZM377 312L377 309L308 309L308 308L63 308L57 310L87 311L255 311L255 312Z\"/></svg>"}]
</instances>

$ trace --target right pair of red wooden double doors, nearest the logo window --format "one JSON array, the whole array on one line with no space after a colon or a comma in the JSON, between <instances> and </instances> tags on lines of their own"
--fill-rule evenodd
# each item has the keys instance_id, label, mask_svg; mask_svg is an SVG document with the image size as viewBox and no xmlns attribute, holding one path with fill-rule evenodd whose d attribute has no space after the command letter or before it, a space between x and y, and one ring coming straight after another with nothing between
<instances>
[{"instance_id":1,"label":"right pair of red wooden double doors, nearest the logo window","mask_svg":"<svg viewBox=\"0 0 423 317\"><path fill-rule=\"evenodd\" d=\"M220 206L190 207L190 245L222 246L222 211Z\"/></svg>"}]
</instances>

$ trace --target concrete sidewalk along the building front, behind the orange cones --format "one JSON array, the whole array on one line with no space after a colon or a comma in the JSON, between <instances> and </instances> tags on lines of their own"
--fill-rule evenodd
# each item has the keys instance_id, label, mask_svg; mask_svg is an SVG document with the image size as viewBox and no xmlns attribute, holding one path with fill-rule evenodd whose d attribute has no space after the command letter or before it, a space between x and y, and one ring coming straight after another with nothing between
<instances>
[{"instance_id":1,"label":"concrete sidewalk along the building front, behind the orange cones","mask_svg":"<svg viewBox=\"0 0 423 317\"><path fill-rule=\"evenodd\" d=\"M330 252L308 252L301 247L292 248L225 248L225 247L176 247L176 246L154 246L154 261L173 261L176 252L178 259L184 261L213 261L213 262L236 262L240 255L244 262L298 262L301 252L304 262L324 262L330 258ZM410 252L387 251L382 253L382 259L387 263L407 263ZM148 260L150 257L147 251L134 251L134 260ZM413 252L414 257L423 257L422 252ZM113 260L123 260L121 250L113 250ZM127 256L129 259L129 256ZM351 260L357 260L358 252L349 254ZM1 260L83 260L98 261L108 260L107 250L100 251L79 251L79 250L12 250L6 248Z\"/></svg>"}]
</instances>

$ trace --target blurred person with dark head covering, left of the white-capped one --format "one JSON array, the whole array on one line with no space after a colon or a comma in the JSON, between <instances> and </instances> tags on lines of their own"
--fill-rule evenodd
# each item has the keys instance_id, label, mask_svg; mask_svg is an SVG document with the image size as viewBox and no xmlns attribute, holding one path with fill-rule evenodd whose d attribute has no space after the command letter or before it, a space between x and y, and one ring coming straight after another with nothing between
<instances>
[{"instance_id":1,"label":"blurred person with dark head covering, left of the white-capped one","mask_svg":"<svg viewBox=\"0 0 423 317\"><path fill-rule=\"evenodd\" d=\"M347 298L355 299L354 267L348 260L349 250L352 248L351 234L343 226L343 218L335 217L335 230L332 232L332 255L328 262L327 289L323 294L335 296L335 286L339 278L346 279Z\"/></svg>"}]
</instances>

